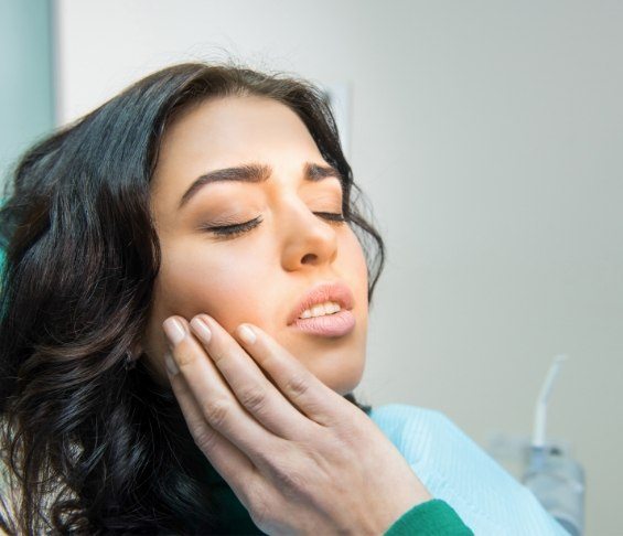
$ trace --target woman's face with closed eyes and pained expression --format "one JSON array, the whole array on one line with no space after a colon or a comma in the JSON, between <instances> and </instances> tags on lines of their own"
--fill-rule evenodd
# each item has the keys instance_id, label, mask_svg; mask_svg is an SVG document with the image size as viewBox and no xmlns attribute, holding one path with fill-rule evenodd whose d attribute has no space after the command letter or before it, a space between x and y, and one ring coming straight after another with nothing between
<instances>
[{"instance_id":1,"label":"woman's face with closed eyes and pained expression","mask_svg":"<svg viewBox=\"0 0 623 536\"><path fill-rule=\"evenodd\" d=\"M169 127L152 183L162 265L143 341L163 382L162 322L204 312L229 333L243 322L258 325L340 394L358 384L367 272L348 224L324 214L342 212L341 183L329 168L299 117L272 99L210 99ZM212 180L192 187L207 174ZM250 221L236 235L208 229ZM347 333L301 328L309 320L290 323L305 294L322 283L352 292L354 328Z\"/></svg>"}]
</instances>

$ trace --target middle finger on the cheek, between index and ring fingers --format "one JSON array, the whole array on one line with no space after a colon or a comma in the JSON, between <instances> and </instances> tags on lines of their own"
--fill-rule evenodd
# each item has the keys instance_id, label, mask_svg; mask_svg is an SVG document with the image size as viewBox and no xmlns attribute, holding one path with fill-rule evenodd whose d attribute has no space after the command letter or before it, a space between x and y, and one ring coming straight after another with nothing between
<instances>
[{"instance_id":1,"label":"middle finger on the cheek, between index and ring fingers","mask_svg":"<svg viewBox=\"0 0 623 536\"><path fill-rule=\"evenodd\" d=\"M191 321L191 329L236 398L265 428L284 439L300 439L310 431L312 422L268 380L218 322L207 314L198 314Z\"/></svg>"}]
</instances>

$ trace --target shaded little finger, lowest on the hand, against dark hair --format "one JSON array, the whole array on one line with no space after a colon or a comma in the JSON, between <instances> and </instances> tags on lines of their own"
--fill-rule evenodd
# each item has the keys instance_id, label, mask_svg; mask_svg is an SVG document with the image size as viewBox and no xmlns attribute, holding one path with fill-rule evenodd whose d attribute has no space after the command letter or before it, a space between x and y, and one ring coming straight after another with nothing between
<instances>
[{"instance_id":1,"label":"shaded little finger, lowest on the hand, against dark hair","mask_svg":"<svg viewBox=\"0 0 623 536\"><path fill-rule=\"evenodd\" d=\"M253 481L257 479L256 467L238 448L205 421L183 375L169 374L169 379L195 444L243 501L243 497L246 499L245 487L253 486Z\"/></svg>"}]
</instances>

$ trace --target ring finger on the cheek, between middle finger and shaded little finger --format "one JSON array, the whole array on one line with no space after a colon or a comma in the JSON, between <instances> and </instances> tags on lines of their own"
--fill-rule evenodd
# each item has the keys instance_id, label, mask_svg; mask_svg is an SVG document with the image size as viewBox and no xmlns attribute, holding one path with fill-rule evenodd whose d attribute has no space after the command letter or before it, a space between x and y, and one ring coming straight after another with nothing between
<instances>
[{"instance_id":1,"label":"ring finger on the cheek, between middle finger and shaded little finger","mask_svg":"<svg viewBox=\"0 0 623 536\"><path fill-rule=\"evenodd\" d=\"M181 317L164 321L171 354L207 424L238 447L256 467L277 449L277 436L264 428L237 401L203 346Z\"/></svg>"}]
</instances>

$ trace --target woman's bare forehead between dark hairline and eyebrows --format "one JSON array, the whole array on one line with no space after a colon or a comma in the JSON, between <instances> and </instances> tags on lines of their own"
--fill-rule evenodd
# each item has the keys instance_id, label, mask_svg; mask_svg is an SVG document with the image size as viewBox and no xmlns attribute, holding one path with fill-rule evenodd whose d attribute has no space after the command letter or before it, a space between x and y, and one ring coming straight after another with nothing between
<instances>
[{"instance_id":1,"label":"woman's bare forehead between dark hairline and eyebrows","mask_svg":"<svg viewBox=\"0 0 623 536\"><path fill-rule=\"evenodd\" d=\"M173 217L184 192L214 170L260 163L283 178L300 175L308 162L323 163L302 120L265 97L223 97L182 110L168 127L151 181L158 219Z\"/></svg>"}]
</instances>

